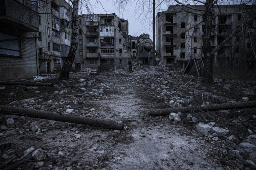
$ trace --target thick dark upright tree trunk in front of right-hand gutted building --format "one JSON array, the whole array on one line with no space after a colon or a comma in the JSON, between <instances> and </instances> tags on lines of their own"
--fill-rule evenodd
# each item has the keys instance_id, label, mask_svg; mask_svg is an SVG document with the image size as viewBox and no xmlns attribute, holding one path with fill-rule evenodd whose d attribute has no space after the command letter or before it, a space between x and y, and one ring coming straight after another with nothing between
<instances>
[{"instance_id":1,"label":"thick dark upright tree trunk in front of right-hand gutted building","mask_svg":"<svg viewBox=\"0 0 256 170\"><path fill-rule=\"evenodd\" d=\"M212 32L212 20L213 20L213 4L212 0L206 0L205 2L205 30L203 32L203 51L205 54L205 66L203 67L202 83L212 84L213 82L213 65L214 54L211 54L211 32Z\"/></svg>"}]
</instances>

